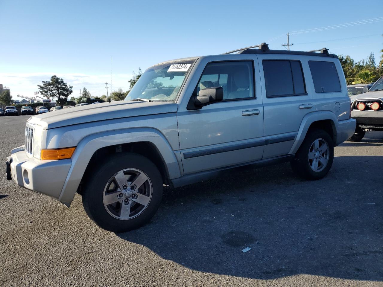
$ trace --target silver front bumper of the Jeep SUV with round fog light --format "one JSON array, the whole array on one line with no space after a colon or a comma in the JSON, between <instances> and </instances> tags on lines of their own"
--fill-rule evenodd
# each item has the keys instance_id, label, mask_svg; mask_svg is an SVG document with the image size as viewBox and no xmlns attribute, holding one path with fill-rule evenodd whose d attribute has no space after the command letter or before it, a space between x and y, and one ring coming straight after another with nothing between
<instances>
[{"instance_id":1,"label":"silver front bumper of the Jeep SUV with round fog light","mask_svg":"<svg viewBox=\"0 0 383 287\"><path fill-rule=\"evenodd\" d=\"M39 160L30 158L25 146L15 148L7 157L7 179L19 186L58 199L72 160Z\"/></svg>"}]
</instances>

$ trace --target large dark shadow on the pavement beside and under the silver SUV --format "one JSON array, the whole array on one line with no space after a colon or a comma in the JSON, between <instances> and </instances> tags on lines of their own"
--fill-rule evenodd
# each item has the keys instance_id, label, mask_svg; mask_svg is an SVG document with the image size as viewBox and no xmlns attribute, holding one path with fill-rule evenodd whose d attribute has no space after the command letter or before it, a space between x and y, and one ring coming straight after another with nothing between
<instances>
[{"instance_id":1,"label":"large dark shadow on the pavement beside and under the silver SUV","mask_svg":"<svg viewBox=\"0 0 383 287\"><path fill-rule=\"evenodd\" d=\"M165 190L146 226L117 234L202 272L383 280L383 156L336 157L319 181L288 163ZM242 249L252 248L247 253Z\"/></svg>"}]
</instances>

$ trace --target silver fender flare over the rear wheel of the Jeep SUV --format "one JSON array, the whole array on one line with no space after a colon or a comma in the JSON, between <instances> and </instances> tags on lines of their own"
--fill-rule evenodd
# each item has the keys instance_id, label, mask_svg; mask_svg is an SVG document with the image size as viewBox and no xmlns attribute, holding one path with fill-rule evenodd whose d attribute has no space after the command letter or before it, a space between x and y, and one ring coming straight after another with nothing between
<instances>
[{"instance_id":1,"label":"silver fender flare over the rear wheel of the Jeep SUV","mask_svg":"<svg viewBox=\"0 0 383 287\"><path fill-rule=\"evenodd\" d=\"M304 137L306 137L307 131L310 127L310 125L313 122L316 121L322 121L322 120L331 120L332 122L332 130L334 132L334 142L336 145L339 143L337 142L337 129L336 129L336 123L338 122L336 116L331 111L317 111L306 114L306 116L303 117L301 125L298 130L298 134L296 136L295 142L293 143L293 146L290 149L289 155L294 154L298 151L298 148L301 146Z\"/></svg>"}]
</instances>

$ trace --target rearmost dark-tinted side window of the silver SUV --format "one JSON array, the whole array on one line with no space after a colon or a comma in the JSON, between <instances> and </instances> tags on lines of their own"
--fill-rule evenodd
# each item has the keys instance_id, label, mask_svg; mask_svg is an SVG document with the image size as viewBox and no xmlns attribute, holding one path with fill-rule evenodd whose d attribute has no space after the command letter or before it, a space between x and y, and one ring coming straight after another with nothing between
<instances>
[{"instance_id":1,"label":"rearmost dark-tinted side window of the silver SUV","mask_svg":"<svg viewBox=\"0 0 383 287\"><path fill-rule=\"evenodd\" d=\"M309 61L311 76L316 93L340 92L340 82L333 62Z\"/></svg>"}]
</instances>

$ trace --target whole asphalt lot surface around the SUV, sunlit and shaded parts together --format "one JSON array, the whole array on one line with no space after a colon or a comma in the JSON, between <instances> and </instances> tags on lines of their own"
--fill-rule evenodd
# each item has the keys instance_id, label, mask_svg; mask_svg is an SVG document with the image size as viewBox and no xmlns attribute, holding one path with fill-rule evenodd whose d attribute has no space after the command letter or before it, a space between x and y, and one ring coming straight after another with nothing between
<instances>
[{"instance_id":1,"label":"whole asphalt lot surface around the SUV, sunlit and shaded parts together","mask_svg":"<svg viewBox=\"0 0 383 287\"><path fill-rule=\"evenodd\" d=\"M28 118L0 117L2 174ZM0 285L382 286L382 145L343 143L319 181L286 163L166 189L149 224L119 234L79 195L68 209L2 175Z\"/></svg>"}]
</instances>

